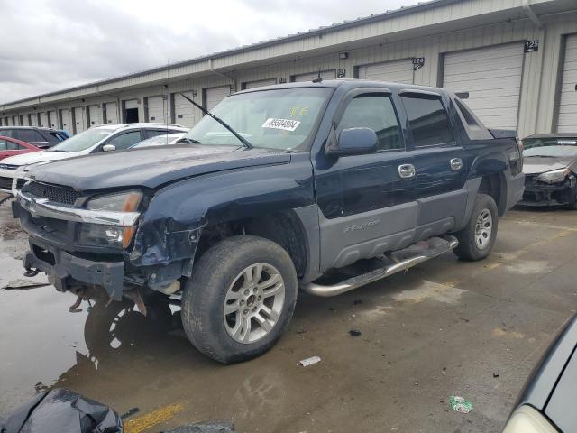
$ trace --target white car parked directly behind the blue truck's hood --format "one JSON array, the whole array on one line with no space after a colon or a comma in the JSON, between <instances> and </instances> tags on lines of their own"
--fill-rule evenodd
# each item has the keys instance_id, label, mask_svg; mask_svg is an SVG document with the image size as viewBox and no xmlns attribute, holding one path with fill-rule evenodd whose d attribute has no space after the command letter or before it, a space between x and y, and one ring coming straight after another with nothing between
<instances>
[{"instance_id":1,"label":"white car parked directly behind the blue truck's hood","mask_svg":"<svg viewBox=\"0 0 577 433\"><path fill-rule=\"evenodd\" d=\"M24 153L0 161L0 191L13 194L26 183L32 166L60 161L96 152L128 149L135 143L156 135L184 134L188 128L179 124L105 124L76 134L42 152Z\"/></svg>"}]
</instances>

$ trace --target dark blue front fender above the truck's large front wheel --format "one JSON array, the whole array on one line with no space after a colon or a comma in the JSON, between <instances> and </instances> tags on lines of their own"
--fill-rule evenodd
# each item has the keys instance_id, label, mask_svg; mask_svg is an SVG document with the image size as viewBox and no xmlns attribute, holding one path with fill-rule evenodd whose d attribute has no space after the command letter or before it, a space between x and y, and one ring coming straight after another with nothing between
<instances>
[{"instance_id":1,"label":"dark blue front fender above the truck's large front wheel","mask_svg":"<svg viewBox=\"0 0 577 433\"><path fill-rule=\"evenodd\" d=\"M194 256L202 227L315 203L308 153L289 163L220 171L160 189L142 215L130 262L167 264Z\"/></svg>"}]
</instances>

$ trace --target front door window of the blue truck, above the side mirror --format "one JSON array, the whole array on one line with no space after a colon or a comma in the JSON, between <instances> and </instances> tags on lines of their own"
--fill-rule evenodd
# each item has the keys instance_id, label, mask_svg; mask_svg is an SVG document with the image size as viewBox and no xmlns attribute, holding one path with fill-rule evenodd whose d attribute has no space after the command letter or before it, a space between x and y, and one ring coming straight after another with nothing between
<instances>
[{"instance_id":1,"label":"front door window of the blue truck, above the side mirror","mask_svg":"<svg viewBox=\"0 0 577 433\"><path fill-rule=\"evenodd\" d=\"M405 148L389 95L365 93L353 97L339 123L339 133L347 128L371 128L377 134L378 151Z\"/></svg>"}]
</instances>

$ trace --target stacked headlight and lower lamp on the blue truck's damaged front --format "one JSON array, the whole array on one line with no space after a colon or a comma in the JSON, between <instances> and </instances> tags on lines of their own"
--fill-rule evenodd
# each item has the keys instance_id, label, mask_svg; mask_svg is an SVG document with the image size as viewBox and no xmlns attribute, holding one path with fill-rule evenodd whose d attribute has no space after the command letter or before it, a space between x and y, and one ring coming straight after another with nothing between
<instances>
[{"instance_id":1,"label":"stacked headlight and lower lamp on the blue truck's damaged front","mask_svg":"<svg viewBox=\"0 0 577 433\"><path fill-rule=\"evenodd\" d=\"M103 213L133 213L142 202L142 192L128 191L118 194L96 196L87 202L87 209ZM84 246L128 248L136 226L108 226L105 224L83 224L80 228L78 244Z\"/></svg>"}]
</instances>

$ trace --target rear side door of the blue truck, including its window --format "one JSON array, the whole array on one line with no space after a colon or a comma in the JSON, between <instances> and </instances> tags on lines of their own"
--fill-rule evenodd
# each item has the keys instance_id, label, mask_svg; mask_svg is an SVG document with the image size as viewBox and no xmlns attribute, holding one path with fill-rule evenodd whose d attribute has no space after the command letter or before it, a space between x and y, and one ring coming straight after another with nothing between
<instances>
[{"instance_id":1,"label":"rear side door of the blue truck, including its window","mask_svg":"<svg viewBox=\"0 0 577 433\"><path fill-rule=\"evenodd\" d=\"M445 101L429 91L400 92L407 115L408 146L415 168L416 241L450 231L461 221L467 193L466 152L457 143Z\"/></svg>"}]
</instances>

